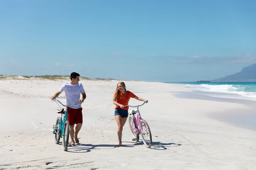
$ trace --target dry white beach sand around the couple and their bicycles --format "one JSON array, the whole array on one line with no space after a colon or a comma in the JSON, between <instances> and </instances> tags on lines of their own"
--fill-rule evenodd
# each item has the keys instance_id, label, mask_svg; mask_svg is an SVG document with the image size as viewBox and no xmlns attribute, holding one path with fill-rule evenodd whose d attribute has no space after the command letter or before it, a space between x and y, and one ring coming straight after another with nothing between
<instances>
[{"instance_id":1,"label":"dry white beach sand around the couple and their bicycles","mask_svg":"<svg viewBox=\"0 0 256 170\"><path fill-rule=\"evenodd\" d=\"M52 125L58 105L49 97L67 81L0 80L0 170L256 169L256 132L209 116L251 108L231 102L176 98L174 93L189 89L157 82L125 81L128 90L149 100L140 112L151 128L151 149L141 140L131 141L128 121L123 146L116 147L112 98L117 81L81 79L87 94L82 105L81 144L65 152L54 142ZM58 98L63 103L64 96ZM130 100L130 105L141 103Z\"/></svg>"}]
</instances>

